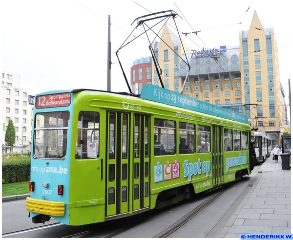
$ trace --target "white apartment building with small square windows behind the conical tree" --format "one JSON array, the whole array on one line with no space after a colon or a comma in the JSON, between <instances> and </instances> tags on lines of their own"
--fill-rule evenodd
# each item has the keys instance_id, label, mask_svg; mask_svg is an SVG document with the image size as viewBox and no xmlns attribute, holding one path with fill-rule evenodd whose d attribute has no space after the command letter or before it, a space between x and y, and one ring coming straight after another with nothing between
<instances>
[{"instance_id":1,"label":"white apartment building with small square windows behind the conical tree","mask_svg":"<svg viewBox=\"0 0 293 240\"><path fill-rule=\"evenodd\" d=\"M2 153L27 153L30 148L32 110L28 97L28 90L20 88L20 75L2 70ZM5 144L9 119L16 131L13 148Z\"/></svg>"}]
</instances>

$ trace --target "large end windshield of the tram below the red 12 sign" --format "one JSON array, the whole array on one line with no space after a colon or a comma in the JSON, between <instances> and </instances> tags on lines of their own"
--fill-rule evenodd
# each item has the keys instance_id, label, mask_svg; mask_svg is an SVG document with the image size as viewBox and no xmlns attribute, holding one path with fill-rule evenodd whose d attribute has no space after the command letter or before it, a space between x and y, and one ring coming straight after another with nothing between
<instances>
[{"instance_id":1,"label":"large end windshield of the tram below the red 12 sign","mask_svg":"<svg viewBox=\"0 0 293 240\"><path fill-rule=\"evenodd\" d=\"M35 115L34 158L64 159L67 148L69 111Z\"/></svg>"}]
</instances>

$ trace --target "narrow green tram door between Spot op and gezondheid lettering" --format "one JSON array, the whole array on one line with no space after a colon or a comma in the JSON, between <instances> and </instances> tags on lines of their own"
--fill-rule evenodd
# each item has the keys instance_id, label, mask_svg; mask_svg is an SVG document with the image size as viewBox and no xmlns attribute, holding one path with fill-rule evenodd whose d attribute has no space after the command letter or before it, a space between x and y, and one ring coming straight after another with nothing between
<instances>
[{"instance_id":1,"label":"narrow green tram door between Spot op and gezondheid lettering","mask_svg":"<svg viewBox=\"0 0 293 240\"><path fill-rule=\"evenodd\" d=\"M213 186L224 182L224 140L223 127L212 126L212 183Z\"/></svg>"}]
</instances>

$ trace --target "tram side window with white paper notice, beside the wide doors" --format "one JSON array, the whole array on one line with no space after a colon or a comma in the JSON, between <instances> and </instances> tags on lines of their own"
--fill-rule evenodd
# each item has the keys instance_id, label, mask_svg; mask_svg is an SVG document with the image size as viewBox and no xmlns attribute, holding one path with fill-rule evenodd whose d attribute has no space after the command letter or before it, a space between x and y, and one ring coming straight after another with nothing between
<instances>
[{"instance_id":1,"label":"tram side window with white paper notice, beside the wide doors","mask_svg":"<svg viewBox=\"0 0 293 240\"><path fill-rule=\"evenodd\" d=\"M75 147L76 159L99 157L99 123L100 115L98 112L80 111L78 116L77 141ZM91 146L94 147L94 149L91 148ZM88 147L90 149L87 149Z\"/></svg>"}]
</instances>

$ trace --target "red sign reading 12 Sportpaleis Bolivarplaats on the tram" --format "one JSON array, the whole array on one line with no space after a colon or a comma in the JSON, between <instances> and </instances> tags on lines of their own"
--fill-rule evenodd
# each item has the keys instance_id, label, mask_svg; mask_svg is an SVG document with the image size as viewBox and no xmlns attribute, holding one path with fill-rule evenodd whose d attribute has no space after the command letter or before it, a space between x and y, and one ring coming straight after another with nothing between
<instances>
[{"instance_id":1,"label":"red sign reading 12 Sportpaleis Bolivarplaats on the tram","mask_svg":"<svg viewBox=\"0 0 293 240\"><path fill-rule=\"evenodd\" d=\"M53 93L47 95L40 95L36 98L36 108L54 108L66 107L71 103L71 94L69 92Z\"/></svg>"}]
</instances>

